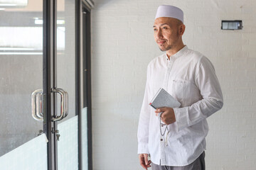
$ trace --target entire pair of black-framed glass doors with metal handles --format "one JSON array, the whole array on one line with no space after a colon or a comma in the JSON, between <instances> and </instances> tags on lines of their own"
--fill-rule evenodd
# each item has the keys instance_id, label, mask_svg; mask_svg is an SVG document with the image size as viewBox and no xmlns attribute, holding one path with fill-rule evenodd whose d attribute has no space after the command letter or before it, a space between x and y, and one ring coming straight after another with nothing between
<instances>
[{"instance_id":1,"label":"entire pair of black-framed glass doors with metal handles","mask_svg":"<svg viewBox=\"0 0 256 170\"><path fill-rule=\"evenodd\" d=\"M90 61L81 59L90 15L85 22L81 4L0 0L0 169L91 169Z\"/></svg>"}]
</instances>

